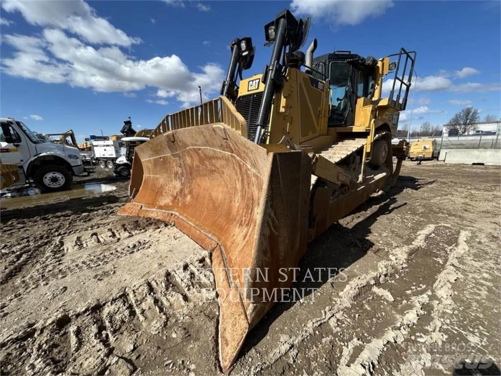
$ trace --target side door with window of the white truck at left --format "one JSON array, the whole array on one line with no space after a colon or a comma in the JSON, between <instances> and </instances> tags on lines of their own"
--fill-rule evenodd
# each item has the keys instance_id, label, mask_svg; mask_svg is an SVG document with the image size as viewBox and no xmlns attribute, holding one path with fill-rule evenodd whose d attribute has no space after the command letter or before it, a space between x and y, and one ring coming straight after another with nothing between
<instances>
[{"instance_id":1,"label":"side door with window of the white truck at left","mask_svg":"<svg viewBox=\"0 0 501 376\"><path fill-rule=\"evenodd\" d=\"M11 121L0 124L0 157L3 163L23 164L30 159L28 141Z\"/></svg>"}]
</instances>

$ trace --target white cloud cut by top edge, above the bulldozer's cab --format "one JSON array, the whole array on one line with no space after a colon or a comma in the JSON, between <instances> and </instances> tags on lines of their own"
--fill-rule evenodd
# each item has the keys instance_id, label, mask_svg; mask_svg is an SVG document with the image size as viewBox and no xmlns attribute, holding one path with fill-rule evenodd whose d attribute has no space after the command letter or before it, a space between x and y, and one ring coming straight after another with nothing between
<instances>
[{"instance_id":1,"label":"white cloud cut by top edge, above the bulldozer's cab","mask_svg":"<svg viewBox=\"0 0 501 376\"><path fill-rule=\"evenodd\" d=\"M371 16L382 15L393 6L390 0L346 1L346 0L292 0L291 11L298 15L309 15L315 19L326 19L337 25L357 25Z\"/></svg>"}]
</instances>

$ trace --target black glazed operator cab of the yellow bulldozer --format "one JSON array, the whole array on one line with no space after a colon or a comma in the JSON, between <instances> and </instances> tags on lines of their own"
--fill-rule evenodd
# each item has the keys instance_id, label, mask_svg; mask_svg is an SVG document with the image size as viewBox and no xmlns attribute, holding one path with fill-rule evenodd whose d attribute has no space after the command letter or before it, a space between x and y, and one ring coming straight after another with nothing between
<instances>
[{"instance_id":1,"label":"black glazed operator cab of the yellow bulldozer","mask_svg":"<svg viewBox=\"0 0 501 376\"><path fill-rule=\"evenodd\" d=\"M335 51L313 59L313 76L328 79L331 88L329 127L352 126L356 100L374 95L374 68L372 56L363 58L350 51Z\"/></svg>"}]
</instances>

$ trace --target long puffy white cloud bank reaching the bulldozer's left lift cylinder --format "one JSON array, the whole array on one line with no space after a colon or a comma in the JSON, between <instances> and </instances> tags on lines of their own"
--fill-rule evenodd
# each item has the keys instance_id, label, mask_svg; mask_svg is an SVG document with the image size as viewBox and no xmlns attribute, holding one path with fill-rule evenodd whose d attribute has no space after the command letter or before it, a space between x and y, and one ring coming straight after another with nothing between
<instances>
[{"instance_id":1,"label":"long puffy white cloud bank reaching the bulldozer's left lift cylinder","mask_svg":"<svg viewBox=\"0 0 501 376\"><path fill-rule=\"evenodd\" d=\"M58 29L45 29L40 37L6 35L3 40L15 52L2 57L2 71L45 83L67 83L97 92L154 87L189 105L199 100L198 85L204 95L211 94L219 90L223 80L224 72L215 64L192 72L176 55L135 59L117 46L95 48Z\"/></svg>"}]
</instances>

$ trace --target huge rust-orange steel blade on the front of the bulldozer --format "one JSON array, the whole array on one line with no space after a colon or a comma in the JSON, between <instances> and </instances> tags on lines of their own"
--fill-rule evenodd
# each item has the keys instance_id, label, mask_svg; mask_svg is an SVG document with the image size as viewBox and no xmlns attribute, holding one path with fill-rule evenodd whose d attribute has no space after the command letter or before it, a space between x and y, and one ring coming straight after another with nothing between
<instances>
[{"instance_id":1,"label":"huge rust-orange steel blade on the front of the bulldozer","mask_svg":"<svg viewBox=\"0 0 501 376\"><path fill-rule=\"evenodd\" d=\"M306 251L310 175L305 152L268 152L221 123L162 133L135 149L135 197L119 213L172 222L211 253L223 372L292 283Z\"/></svg>"}]
</instances>

